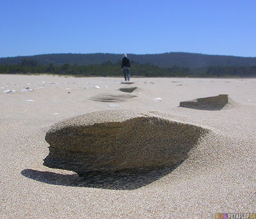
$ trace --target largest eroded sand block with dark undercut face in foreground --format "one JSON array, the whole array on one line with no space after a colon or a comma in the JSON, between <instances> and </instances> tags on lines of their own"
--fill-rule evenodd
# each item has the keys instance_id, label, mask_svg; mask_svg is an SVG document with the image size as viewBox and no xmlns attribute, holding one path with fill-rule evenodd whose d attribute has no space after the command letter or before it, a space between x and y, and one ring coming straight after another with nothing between
<instances>
[{"instance_id":1,"label":"largest eroded sand block with dark undercut face in foreground","mask_svg":"<svg viewBox=\"0 0 256 219\"><path fill-rule=\"evenodd\" d=\"M52 126L45 135L50 147L44 165L81 176L91 171L172 166L185 160L207 132L150 112L93 112Z\"/></svg>"}]
</instances>

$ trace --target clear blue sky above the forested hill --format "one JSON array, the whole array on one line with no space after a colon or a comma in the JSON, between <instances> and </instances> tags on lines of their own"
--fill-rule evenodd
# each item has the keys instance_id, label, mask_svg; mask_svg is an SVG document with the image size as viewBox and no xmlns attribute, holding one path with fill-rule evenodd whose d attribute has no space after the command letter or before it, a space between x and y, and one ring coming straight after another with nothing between
<instances>
[{"instance_id":1,"label":"clear blue sky above the forested hill","mask_svg":"<svg viewBox=\"0 0 256 219\"><path fill-rule=\"evenodd\" d=\"M196 52L256 57L255 0L0 2L0 57Z\"/></svg>"}]
</instances>

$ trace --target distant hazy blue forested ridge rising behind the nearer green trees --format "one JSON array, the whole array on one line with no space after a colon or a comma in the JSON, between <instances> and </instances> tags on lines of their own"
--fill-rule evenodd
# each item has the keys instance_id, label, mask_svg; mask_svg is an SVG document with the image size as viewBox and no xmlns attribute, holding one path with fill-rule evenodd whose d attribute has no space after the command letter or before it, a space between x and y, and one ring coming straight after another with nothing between
<instances>
[{"instance_id":1,"label":"distant hazy blue forested ridge rising behind the nearer green trees","mask_svg":"<svg viewBox=\"0 0 256 219\"><path fill-rule=\"evenodd\" d=\"M188 52L169 52L163 54L128 54L129 59L141 64L150 63L162 68L172 66L180 67L208 67L208 66L256 66L256 57L217 56L195 54ZM36 56L17 56L0 58L0 64L20 64L27 60L33 64L55 64L61 66L65 63L87 66L89 64L102 64L110 61L116 63L122 59L122 54L43 54Z\"/></svg>"}]
</instances>

